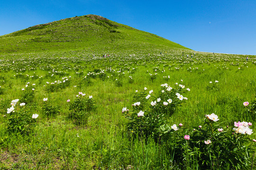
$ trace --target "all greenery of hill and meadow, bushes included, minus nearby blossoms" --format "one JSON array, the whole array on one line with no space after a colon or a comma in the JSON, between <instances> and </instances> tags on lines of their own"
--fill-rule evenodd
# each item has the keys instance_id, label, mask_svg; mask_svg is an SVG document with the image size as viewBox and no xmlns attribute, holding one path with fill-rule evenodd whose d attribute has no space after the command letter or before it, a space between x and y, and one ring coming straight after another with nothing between
<instances>
[{"instance_id":1,"label":"all greenery of hill and meadow, bushes included, minus nearby blossoms","mask_svg":"<svg viewBox=\"0 0 256 170\"><path fill-rule=\"evenodd\" d=\"M256 56L246 61L244 55L195 52L97 16L73 17L1 36L0 51L0 169L255 167ZM175 93L166 97L160 86L165 83L179 90L175 92L185 91L188 100L178 103ZM146 99L150 90L153 93ZM154 96L161 98L155 108L150 104L157 100ZM172 97L178 104L165 107L163 102ZM15 99L19 99L15 112L7 113ZM19 106L21 102L26 105ZM135 102L141 102L141 108L134 109ZM133 117L126 118L124 107ZM140 110L144 117L137 117ZM155 110L164 111L160 115ZM215 123L204 116L212 113L219 116ZM38 118L32 119L33 114ZM7 122L16 120L16 115L22 121ZM28 128L31 121L33 127ZM254 132L237 134L234 121L252 122ZM179 130L171 128L174 124ZM205 144L209 139L211 144Z\"/></svg>"}]
</instances>

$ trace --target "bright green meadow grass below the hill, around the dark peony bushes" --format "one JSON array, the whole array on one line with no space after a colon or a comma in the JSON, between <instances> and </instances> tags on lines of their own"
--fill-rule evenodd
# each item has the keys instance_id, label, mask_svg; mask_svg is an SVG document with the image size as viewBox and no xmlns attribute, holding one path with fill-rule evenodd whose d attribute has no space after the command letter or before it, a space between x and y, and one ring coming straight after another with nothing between
<instances>
[{"instance_id":1,"label":"bright green meadow grass below the hill, around the dark peony bushes","mask_svg":"<svg viewBox=\"0 0 256 170\"><path fill-rule=\"evenodd\" d=\"M216 54L218 57L209 59L211 54L198 52L192 60L182 58L181 51L162 56L155 54L155 58L150 59L148 55L128 57L129 53L107 59L36 55L30 56L30 59L26 55L12 59L7 56L0 63L0 88L3 89L3 94L0 94L2 169L200 169L196 155L181 158L183 164L175 161L176 153L167 147L171 141L155 142L150 137L132 136L127 131L128 119L122 114L122 108L132 108L135 91L146 87L157 92L164 83L171 86L176 82L183 83L185 88L190 89L186 96L188 100L168 118L170 126L182 123L184 127L193 129L203 124L205 114L211 113L218 114L219 119L226 121L230 127L234 121L251 121L243 118L241 113L245 109L243 102L255 99L255 57L250 62L242 63L244 56ZM32 63L32 59L36 61ZM239 64L234 64L236 62ZM155 71L155 67L159 70ZM26 70L20 71L21 68ZM92 74L90 84L82 83L84 76L97 68L104 70L106 78L102 80L97 75L94 78ZM78 73L82 72L83 76L79 76ZM157 76L152 81L149 74L155 73ZM30 77L32 75L42 77L34 79ZM129 82L128 76L132 76L134 81ZM46 90L46 82L63 81L62 77L70 79L71 84L53 92ZM122 85L118 86L115 79L120 80ZM215 83L215 80L219 81L216 83L219 89L207 90L210 81ZM36 84L33 86L33 104L26 107L31 116L39 114L37 126L27 136L7 133L3 116L7 115L10 101L21 98L21 89L27 82L30 82L29 85ZM92 95L97 106L87 124L81 126L68 119L70 110L67 100L73 101L78 92ZM43 115L43 98L48 98L48 102L59 108L60 113L55 117ZM148 102L151 102L150 98ZM255 130L255 120L252 123ZM255 134L250 137L255 138Z\"/></svg>"}]
</instances>

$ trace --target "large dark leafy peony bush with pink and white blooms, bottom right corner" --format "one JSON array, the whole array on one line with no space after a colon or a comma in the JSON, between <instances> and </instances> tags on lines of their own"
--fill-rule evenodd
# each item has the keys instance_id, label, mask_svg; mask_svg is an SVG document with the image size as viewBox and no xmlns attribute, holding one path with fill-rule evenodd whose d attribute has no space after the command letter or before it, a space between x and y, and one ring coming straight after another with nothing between
<instances>
[{"instance_id":1,"label":"large dark leafy peony bush with pink and white blooms, bottom right corner","mask_svg":"<svg viewBox=\"0 0 256 170\"><path fill-rule=\"evenodd\" d=\"M248 138L252 129L250 123L235 122L234 128L217 123L214 113L205 115L204 125L192 131L173 125L165 131L170 153L175 153L175 161L184 168L197 162L200 169L249 169L255 144ZM166 129L165 129L166 130ZM253 143L252 143L253 142Z\"/></svg>"}]
</instances>

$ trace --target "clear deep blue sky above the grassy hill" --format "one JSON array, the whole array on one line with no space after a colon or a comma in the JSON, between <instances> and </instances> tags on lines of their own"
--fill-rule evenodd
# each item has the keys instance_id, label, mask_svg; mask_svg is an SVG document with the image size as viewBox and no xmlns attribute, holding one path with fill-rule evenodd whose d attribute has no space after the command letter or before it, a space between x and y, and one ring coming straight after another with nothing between
<instances>
[{"instance_id":1,"label":"clear deep blue sky above the grassy hill","mask_svg":"<svg viewBox=\"0 0 256 170\"><path fill-rule=\"evenodd\" d=\"M0 35L87 14L195 51L256 55L256 0L1 0Z\"/></svg>"}]
</instances>

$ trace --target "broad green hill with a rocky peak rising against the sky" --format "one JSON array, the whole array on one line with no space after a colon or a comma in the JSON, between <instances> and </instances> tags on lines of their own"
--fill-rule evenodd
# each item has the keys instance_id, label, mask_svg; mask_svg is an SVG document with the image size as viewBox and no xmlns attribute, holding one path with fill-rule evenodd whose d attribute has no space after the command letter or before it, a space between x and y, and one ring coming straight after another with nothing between
<instances>
[{"instance_id":1,"label":"broad green hill with a rocky peak rising against the sky","mask_svg":"<svg viewBox=\"0 0 256 170\"><path fill-rule=\"evenodd\" d=\"M0 36L0 53L45 51L142 51L187 49L155 34L122 25L107 18L86 15L31 26Z\"/></svg>"}]
</instances>

